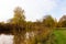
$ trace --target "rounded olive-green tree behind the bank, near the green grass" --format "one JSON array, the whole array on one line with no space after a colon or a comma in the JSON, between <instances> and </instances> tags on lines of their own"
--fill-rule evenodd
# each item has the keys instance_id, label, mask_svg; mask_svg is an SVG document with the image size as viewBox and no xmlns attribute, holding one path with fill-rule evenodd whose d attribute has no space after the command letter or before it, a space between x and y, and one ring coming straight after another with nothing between
<instances>
[{"instance_id":1,"label":"rounded olive-green tree behind the bank, near the green grass","mask_svg":"<svg viewBox=\"0 0 66 44\"><path fill-rule=\"evenodd\" d=\"M43 18L43 24L48 28L55 26L55 21L51 15L45 15Z\"/></svg>"}]
</instances>

